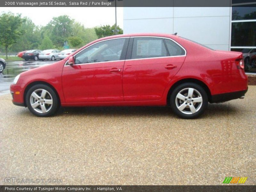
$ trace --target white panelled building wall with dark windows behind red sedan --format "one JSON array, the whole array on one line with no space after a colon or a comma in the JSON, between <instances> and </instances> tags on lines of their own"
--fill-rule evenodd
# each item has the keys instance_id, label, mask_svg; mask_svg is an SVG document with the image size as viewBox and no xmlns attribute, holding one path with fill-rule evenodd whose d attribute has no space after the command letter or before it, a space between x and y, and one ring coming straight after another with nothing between
<instances>
[{"instance_id":1,"label":"white panelled building wall with dark windows behind red sedan","mask_svg":"<svg viewBox=\"0 0 256 192\"><path fill-rule=\"evenodd\" d=\"M232 7L124 7L124 33L178 33L215 50L244 54L246 72L256 73L256 1Z\"/></svg>"}]
</instances>

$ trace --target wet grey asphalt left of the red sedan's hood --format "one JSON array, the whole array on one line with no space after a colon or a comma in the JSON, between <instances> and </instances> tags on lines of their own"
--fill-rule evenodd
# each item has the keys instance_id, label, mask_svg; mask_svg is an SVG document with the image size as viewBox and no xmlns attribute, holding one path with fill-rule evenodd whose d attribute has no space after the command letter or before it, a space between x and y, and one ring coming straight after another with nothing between
<instances>
[{"instance_id":1,"label":"wet grey asphalt left of the red sedan's hood","mask_svg":"<svg viewBox=\"0 0 256 192\"><path fill-rule=\"evenodd\" d=\"M12 84L13 79L20 73L27 71L29 69L40 67L42 65L48 65L57 61L59 60L7 61L6 68L2 73L0 73L0 95L2 95L3 93L5 93L5 91L8 91L10 89L10 85Z\"/></svg>"}]
</instances>

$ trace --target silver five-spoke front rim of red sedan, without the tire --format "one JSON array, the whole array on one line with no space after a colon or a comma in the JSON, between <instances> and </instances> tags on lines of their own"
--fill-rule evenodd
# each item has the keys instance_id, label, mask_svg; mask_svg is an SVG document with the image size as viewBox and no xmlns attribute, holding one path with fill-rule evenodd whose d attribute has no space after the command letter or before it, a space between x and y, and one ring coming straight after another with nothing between
<instances>
[{"instance_id":1,"label":"silver five-spoke front rim of red sedan, without the tire","mask_svg":"<svg viewBox=\"0 0 256 192\"><path fill-rule=\"evenodd\" d=\"M30 105L38 113L50 111L52 104L52 95L45 89L37 89L30 95Z\"/></svg>"}]
</instances>

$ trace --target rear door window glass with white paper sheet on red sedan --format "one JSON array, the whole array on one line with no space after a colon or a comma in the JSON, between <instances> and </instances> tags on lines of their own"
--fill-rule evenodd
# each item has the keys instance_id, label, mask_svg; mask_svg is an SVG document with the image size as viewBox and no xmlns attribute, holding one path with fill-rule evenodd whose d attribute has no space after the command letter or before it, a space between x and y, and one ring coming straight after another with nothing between
<instances>
[{"instance_id":1,"label":"rear door window glass with white paper sheet on red sedan","mask_svg":"<svg viewBox=\"0 0 256 192\"><path fill-rule=\"evenodd\" d=\"M166 57L167 51L162 38L138 37L134 38L132 59Z\"/></svg>"}]
</instances>

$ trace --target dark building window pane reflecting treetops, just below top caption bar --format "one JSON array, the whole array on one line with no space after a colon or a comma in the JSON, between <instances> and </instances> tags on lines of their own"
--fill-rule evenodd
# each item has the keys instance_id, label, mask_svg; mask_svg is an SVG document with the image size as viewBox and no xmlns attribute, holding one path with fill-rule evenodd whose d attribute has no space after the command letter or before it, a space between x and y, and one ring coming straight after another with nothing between
<instances>
[{"instance_id":1,"label":"dark building window pane reflecting treetops, just below top caption bar","mask_svg":"<svg viewBox=\"0 0 256 192\"><path fill-rule=\"evenodd\" d=\"M232 7L232 20L251 20L256 19L256 4L238 5Z\"/></svg>"}]
</instances>

